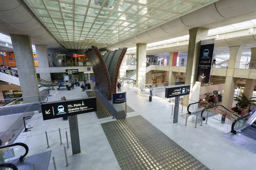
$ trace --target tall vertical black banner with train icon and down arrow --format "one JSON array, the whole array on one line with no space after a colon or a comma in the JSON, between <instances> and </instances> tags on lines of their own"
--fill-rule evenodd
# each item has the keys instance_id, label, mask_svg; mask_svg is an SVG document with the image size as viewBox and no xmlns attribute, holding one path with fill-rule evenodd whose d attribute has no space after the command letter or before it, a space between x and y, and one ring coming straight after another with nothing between
<instances>
[{"instance_id":1,"label":"tall vertical black banner with train icon and down arrow","mask_svg":"<svg viewBox=\"0 0 256 170\"><path fill-rule=\"evenodd\" d=\"M198 74L196 81L209 83L212 68L212 55L214 49L215 38L209 40L201 40Z\"/></svg>"}]
</instances>

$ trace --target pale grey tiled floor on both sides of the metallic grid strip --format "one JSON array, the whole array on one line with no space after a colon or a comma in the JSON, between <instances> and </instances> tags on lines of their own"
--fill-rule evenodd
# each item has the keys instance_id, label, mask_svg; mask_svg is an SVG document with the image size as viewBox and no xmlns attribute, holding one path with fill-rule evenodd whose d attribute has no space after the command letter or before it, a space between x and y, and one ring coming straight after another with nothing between
<instances>
[{"instance_id":1,"label":"pale grey tiled floor on both sides of the metallic grid strip","mask_svg":"<svg viewBox=\"0 0 256 170\"><path fill-rule=\"evenodd\" d=\"M203 126L195 128L195 124L192 122L188 122L185 126L186 119L180 116L178 123L173 124L172 103L157 96L153 96L152 102L148 102L148 96L138 95L140 91L136 88L123 86L122 91L128 92L127 105L135 110L127 113L127 117L143 116L209 169L255 169L256 155L254 153L221 137L230 132L230 125L221 124L215 119L208 119L207 125L203 123ZM138 94L133 91L137 91ZM67 99L87 97L86 92L82 92L79 87L75 87L71 91L52 91L51 95L50 101L59 101L61 96L66 96ZM181 113L180 108L179 115L185 113L184 110ZM63 148L64 145L67 146L65 131L68 132L70 141L68 121L63 121L61 118L43 121L41 114L35 114L30 123L33 127L32 131L21 133L16 142L24 142L29 146L28 156L52 150L51 157L55 157L57 170L121 170L101 127L102 123L113 121L112 117L97 119L93 112L78 115L78 121L81 153L72 155L72 149L67 149L69 167L65 167ZM61 128L62 142L64 143L62 145L60 145L58 128ZM50 144L49 149L47 149L45 137L46 130ZM15 150L16 153L17 151ZM52 159L50 160L48 169L53 170Z\"/></svg>"}]
</instances>

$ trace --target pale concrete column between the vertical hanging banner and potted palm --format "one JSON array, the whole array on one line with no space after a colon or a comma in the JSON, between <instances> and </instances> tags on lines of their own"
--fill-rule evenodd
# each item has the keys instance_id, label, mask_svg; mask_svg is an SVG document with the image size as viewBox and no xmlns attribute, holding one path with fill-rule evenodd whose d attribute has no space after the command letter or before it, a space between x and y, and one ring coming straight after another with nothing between
<instances>
[{"instance_id":1,"label":"pale concrete column between the vertical hanging banner and potted palm","mask_svg":"<svg viewBox=\"0 0 256 170\"><path fill-rule=\"evenodd\" d=\"M236 88L237 78L233 77L236 62L240 62L244 47L230 47L230 58L227 65L227 76L224 85L222 105L231 109Z\"/></svg>"}]
</instances>

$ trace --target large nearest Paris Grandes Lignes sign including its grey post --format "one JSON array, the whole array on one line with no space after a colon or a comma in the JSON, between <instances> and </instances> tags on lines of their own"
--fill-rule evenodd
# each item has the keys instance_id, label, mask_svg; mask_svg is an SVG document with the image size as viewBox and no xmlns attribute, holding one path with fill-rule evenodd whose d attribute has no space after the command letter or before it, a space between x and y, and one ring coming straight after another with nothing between
<instances>
[{"instance_id":1,"label":"large nearest Paris Grandes Lignes sign including its grey post","mask_svg":"<svg viewBox=\"0 0 256 170\"><path fill-rule=\"evenodd\" d=\"M44 120L69 117L73 155L81 153L77 115L97 111L96 97L49 102L41 105Z\"/></svg>"}]
</instances>

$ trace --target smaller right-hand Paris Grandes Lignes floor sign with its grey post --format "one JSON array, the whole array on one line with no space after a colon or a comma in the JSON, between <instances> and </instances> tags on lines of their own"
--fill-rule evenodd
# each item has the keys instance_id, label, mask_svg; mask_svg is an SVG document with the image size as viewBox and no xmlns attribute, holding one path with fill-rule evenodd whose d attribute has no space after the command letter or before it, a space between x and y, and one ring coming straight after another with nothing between
<instances>
[{"instance_id":1,"label":"smaller right-hand Paris Grandes Lignes floor sign with its grey post","mask_svg":"<svg viewBox=\"0 0 256 170\"><path fill-rule=\"evenodd\" d=\"M180 96L188 95L189 93L190 93L190 85L173 85L173 86L170 86L169 88L166 88L165 97L166 98L175 97L173 123L178 122Z\"/></svg>"}]
</instances>

